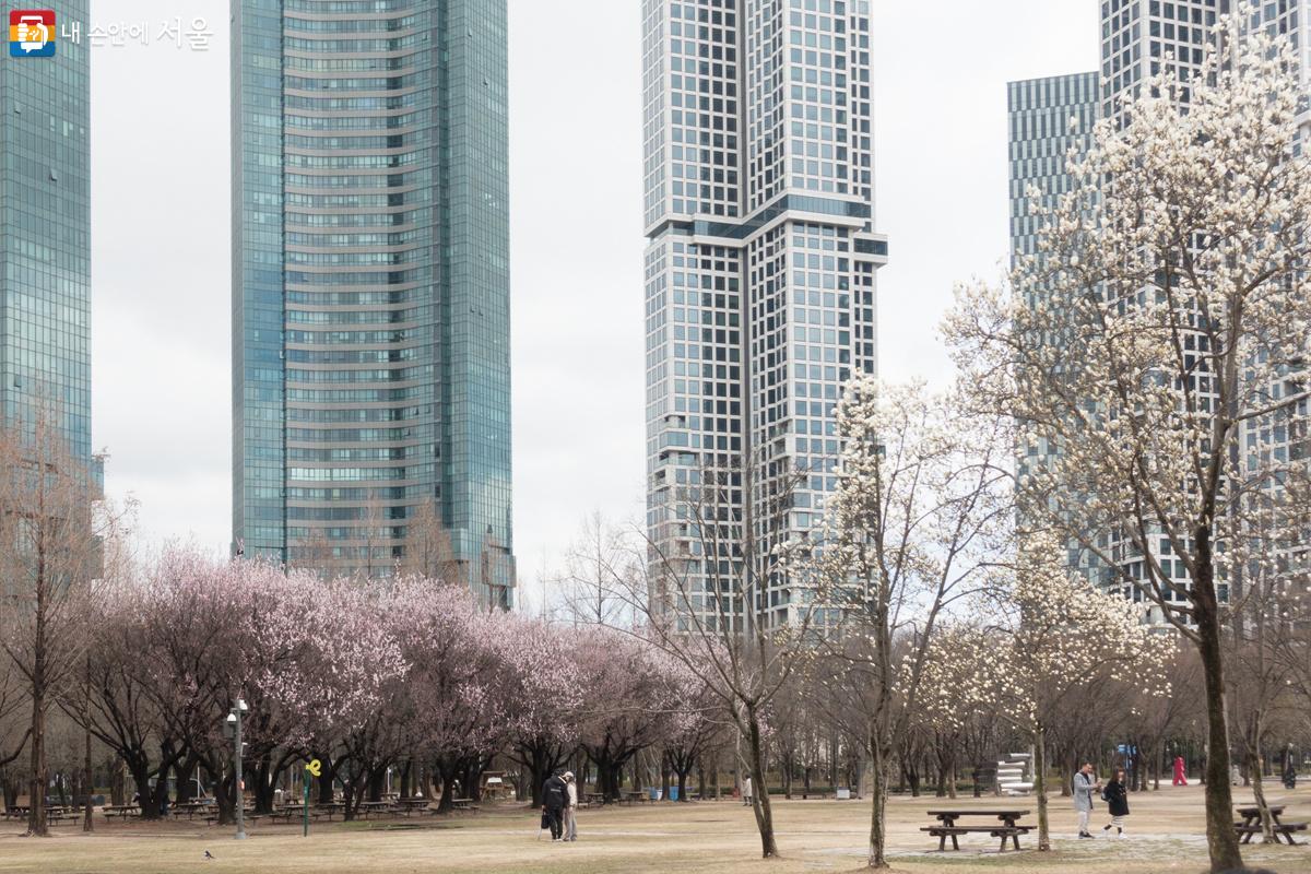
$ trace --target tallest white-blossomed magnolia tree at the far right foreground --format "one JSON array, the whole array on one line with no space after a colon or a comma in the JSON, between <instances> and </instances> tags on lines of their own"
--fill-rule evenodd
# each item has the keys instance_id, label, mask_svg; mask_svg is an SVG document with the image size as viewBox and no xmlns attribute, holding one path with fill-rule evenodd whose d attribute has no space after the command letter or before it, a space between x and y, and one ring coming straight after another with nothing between
<instances>
[{"instance_id":1,"label":"tallest white-blossomed magnolia tree at the far right foreground","mask_svg":"<svg viewBox=\"0 0 1311 874\"><path fill-rule=\"evenodd\" d=\"M1221 587L1248 558L1223 519L1303 473L1262 425L1307 397L1294 377L1311 317L1311 164L1294 64L1268 38L1228 42L1186 86L1164 64L1099 123L1067 159L1071 190L1037 211L1037 256L1009 288L964 290L947 334L978 408L1015 415L1021 446L1049 447L1020 478L1025 518L1082 546L1103 582L1145 592L1197 647L1221 871L1242 866Z\"/></svg>"}]
</instances>

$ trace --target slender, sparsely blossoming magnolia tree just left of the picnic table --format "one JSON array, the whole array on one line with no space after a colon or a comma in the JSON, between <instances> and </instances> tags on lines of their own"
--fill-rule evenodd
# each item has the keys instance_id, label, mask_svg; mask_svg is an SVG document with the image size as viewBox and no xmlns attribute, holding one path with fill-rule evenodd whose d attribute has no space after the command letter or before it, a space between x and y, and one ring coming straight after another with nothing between
<instances>
[{"instance_id":1,"label":"slender, sparsely blossoming magnolia tree just left of the picnic table","mask_svg":"<svg viewBox=\"0 0 1311 874\"><path fill-rule=\"evenodd\" d=\"M851 709L872 770L871 867L888 867L890 764L920 712L937 626L986 582L1008 533L1004 419L962 419L954 409L916 385L848 384L838 486L822 548L805 557L846 616L831 655L859 676Z\"/></svg>"}]
</instances>

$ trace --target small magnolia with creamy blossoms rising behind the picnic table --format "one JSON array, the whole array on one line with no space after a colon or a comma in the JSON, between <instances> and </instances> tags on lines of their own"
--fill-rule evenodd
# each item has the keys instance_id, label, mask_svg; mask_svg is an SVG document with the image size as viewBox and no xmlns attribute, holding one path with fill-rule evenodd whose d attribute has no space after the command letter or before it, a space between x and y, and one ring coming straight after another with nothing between
<instances>
[{"instance_id":1,"label":"small magnolia with creamy blossoms rising behind the picnic table","mask_svg":"<svg viewBox=\"0 0 1311 874\"><path fill-rule=\"evenodd\" d=\"M1038 849L1049 850L1047 726L1097 675L1168 696L1175 642L1143 622L1139 604L1071 574L1051 536L1025 537L1011 586L999 588L1008 621L981 630L990 645L977 649L960 693L965 706L998 713L1032 740Z\"/></svg>"}]
</instances>

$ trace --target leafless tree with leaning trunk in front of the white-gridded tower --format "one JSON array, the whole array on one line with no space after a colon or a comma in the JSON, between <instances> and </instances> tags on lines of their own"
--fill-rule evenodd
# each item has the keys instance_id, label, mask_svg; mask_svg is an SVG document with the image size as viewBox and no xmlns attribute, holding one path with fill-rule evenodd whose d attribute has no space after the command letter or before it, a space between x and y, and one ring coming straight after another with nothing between
<instances>
[{"instance_id":1,"label":"leafless tree with leaning trunk in front of the white-gridded tower","mask_svg":"<svg viewBox=\"0 0 1311 874\"><path fill-rule=\"evenodd\" d=\"M776 857L764 717L812 650L822 618L818 582L805 578L798 558L805 544L780 540L809 472L753 452L708 456L678 473L684 481L665 490L661 519L645 540L648 577L632 582L625 599L649 639L703 677L730 714L758 788L751 801L762 854ZM771 599L783 605L772 609ZM779 612L787 621L777 621Z\"/></svg>"}]
</instances>

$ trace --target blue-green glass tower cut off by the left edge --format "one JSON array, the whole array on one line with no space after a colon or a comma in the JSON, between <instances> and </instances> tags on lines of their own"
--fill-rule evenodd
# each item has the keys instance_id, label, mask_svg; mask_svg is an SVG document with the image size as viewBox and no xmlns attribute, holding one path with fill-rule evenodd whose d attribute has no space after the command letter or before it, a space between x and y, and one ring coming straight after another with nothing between
<instances>
[{"instance_id":1,"label":"blue-green glass tower cut off by the left edge","mask_svg":"<svg viewBox=\"0 0 1311 874\"><path fill-rule=\"evenodd\" d=\"M4 4L8 21L14 4ZM52 423L72 456L90 453L90 58L60 39L87 3L0 60L0 423ZM37 35L39 26L46 30ZM49 37L47 47L37 41Z\"/></svg>"}]
</instances>

